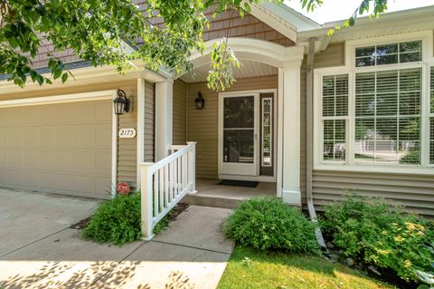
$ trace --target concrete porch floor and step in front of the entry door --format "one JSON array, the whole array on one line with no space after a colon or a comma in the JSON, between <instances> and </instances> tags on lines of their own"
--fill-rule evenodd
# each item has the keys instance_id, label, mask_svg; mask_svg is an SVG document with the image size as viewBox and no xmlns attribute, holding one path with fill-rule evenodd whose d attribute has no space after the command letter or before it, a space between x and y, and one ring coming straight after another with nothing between
<instances>
[{"instance_id":1,"label":"concrete porch floor and step in front of the entry door","mask_svg":"<svg viewBox=\"0 0 434 289\"><path fill-rule=\"evenodd\" d=\"M259 182L256 188L219 185L221 179L196 178L196 193L186 195L182 202L206 207L237 207L250 197L276 197L276 183Z\"/></svg>"}]
</instances>

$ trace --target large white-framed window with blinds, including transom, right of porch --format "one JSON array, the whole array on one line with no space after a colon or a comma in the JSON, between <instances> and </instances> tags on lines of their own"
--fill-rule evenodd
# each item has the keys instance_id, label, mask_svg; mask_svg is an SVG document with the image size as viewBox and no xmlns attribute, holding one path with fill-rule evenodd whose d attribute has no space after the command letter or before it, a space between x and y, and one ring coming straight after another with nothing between
<instances>
[{"instance_id":1,"label":"large white-framed window with blinds, including transom, right of porch","mask_svg":"<svg viewBox=\"0 0 434 289\"><path fill-rule=\"evenodd\" d=\"M434 167L434 58L432 34L424 35L346 43L347 66L316 70L316 165Z\"/></svg>"}]
</instances>

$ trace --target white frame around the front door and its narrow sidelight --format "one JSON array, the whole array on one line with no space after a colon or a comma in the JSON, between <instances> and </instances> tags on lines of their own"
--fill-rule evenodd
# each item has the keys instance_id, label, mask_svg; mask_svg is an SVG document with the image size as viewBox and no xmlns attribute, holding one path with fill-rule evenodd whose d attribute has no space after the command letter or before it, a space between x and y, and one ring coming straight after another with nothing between
<instances>
[{"instance_id":1,"label":"white frame around the front door and its narrow sidelight","mask_svg":"<svg viewBox=\"0 0 434 289\"><path fill-rule=\"evenodd\" d=\"M274 121L274 129L273 129L273 149L275 151L275 154L273 156L273 176L259 176L259 166L260 166L260 159L259 159L259 120L260 120L260 93L273 93L274 101L273 101L273 121ZM223 146L222 146L222 100L224 97L241 97L241 96L248 96L248 95L254 95L255 96L255 162L254 165L256 166L256 174L254 176L246 176L246 175L232 175L232 174L224 174L222 172L222 152L223 152ZM219 122L218 122L218 174L219 178L221 179L239 179L239 180L256 180L256 181L266 181L266 182L276 182L276 175L277 175L277 160L278 160L278 142L277 142L277 115L278 115L278 101L276 97L278 96L278 90L277 89L267 89L267 90L251 90L251 91L240 91L240 92L221 92L219 93Z\"/></svg>"}]
</instances>

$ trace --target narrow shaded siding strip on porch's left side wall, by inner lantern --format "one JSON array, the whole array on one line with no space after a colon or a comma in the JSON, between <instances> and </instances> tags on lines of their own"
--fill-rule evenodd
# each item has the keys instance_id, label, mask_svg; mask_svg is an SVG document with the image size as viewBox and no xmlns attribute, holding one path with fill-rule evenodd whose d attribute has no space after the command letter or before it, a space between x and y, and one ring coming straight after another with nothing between
<instances>
[{"instance_id":1,"label":"narrow shaded siding strip on porch's left side wall, by inner lantern","mask_svg":"<svg viewBox=\"0 0 434 289\"><path fill-rule=\"evenodd\" d=\"M186 135L186 89L185 82L176 80L174 82L174 112L173 112L173 143L184 145L187 141Z\"/></svg>"}]
</instances>

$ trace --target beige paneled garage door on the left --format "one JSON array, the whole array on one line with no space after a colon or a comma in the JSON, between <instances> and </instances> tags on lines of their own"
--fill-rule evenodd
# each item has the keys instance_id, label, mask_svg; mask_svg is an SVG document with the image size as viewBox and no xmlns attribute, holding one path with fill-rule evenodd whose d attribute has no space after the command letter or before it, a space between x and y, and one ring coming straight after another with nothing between
<instances>
[{"instance_id":1,"label":"beige paneled garage door on the left","mask_svg":"<svg viewBox=\"0 0 434 289\"><path fill-rule=\"evenodd\" d=\"M111 103L0 108L0 187L109 197Z\"/></svg>"}]
</instances>

